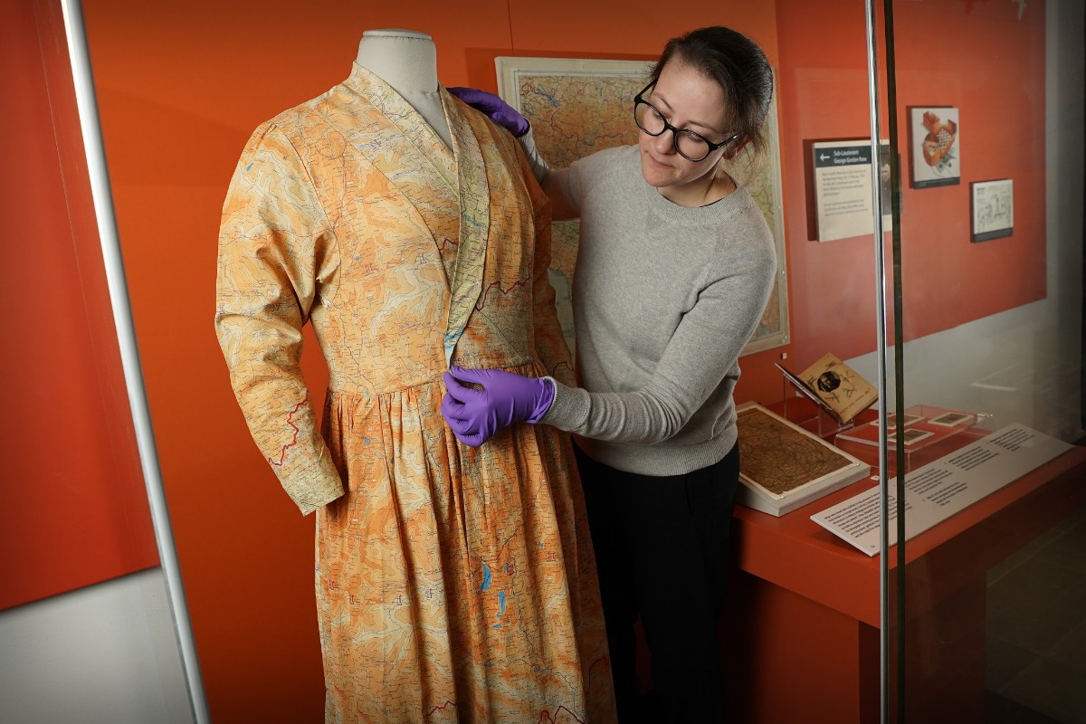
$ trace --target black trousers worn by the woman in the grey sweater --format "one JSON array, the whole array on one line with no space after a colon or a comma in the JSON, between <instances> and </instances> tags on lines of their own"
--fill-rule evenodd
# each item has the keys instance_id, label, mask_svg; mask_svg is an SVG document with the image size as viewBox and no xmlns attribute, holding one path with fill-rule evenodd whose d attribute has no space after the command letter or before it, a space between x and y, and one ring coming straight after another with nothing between
<instances>
[{"instance_id":1,"label":"black trousers worn by the woman in the grey sweater","mask_svg":"<svg viewBox=\"0 0 1086 724\"><path fill-rule=\"evenodd\" d=\"M722 722L718 633L740 447L685 475L639 475L576 448L595 548L620 724ZM637 699L637 618L653 696ZM653 711L655 708L655 711Z\"/></svg>"}]
</instances>

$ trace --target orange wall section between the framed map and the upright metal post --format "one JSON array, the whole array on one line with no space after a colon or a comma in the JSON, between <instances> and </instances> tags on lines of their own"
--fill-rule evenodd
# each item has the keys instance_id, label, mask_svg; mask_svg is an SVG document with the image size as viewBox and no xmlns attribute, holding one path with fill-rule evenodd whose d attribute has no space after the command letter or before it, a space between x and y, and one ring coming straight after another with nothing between
<instances>
[{"instance_id":1,"label":"orange wall section between the framed map and the upright metal post","mask_svg":"<svg viewBox=\"0 0 1086 724\"><path fill-rule=\"evenodd\" d=\"M809 241L816 234L808 226L801 155L807 140L871 137L866 27L854 2L778 4L781 144L793 151L782 168L792 201L785 238L794 360L787 366L799 371L826 352L847 358L875 346L872 238Z\"/></svg>"}]
</instances>

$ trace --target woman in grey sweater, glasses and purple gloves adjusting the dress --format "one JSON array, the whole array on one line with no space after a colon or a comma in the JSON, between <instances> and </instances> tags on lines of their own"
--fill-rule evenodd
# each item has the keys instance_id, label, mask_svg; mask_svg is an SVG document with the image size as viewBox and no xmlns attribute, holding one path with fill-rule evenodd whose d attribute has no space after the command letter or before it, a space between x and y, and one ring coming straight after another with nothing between
<instances>
[{"instance_id":1,"label":"woman in grey sweater, glasses and purple gloves adjusting the dress","mask_svg":"<svg viewBox=\"0 0 1086 724\"><path fill-rule=\"evenodd\" d=\"M707 27L669 41L634 100L637 145L564 170L533 164L554 217L580 218L580 386L503 370L445 374L442 414L462 442L481 445L519 421L576 434L620 722L645 712L639 615L653 721L720 719L716 632L740 470L732 392L775 274L769 228L725 166L765 147L772 90L765 53L740 33ZM507 128L527 125L496 97L454 92ZM522 141L532 156L530 135Z\"/></svg>"}]
</instances>

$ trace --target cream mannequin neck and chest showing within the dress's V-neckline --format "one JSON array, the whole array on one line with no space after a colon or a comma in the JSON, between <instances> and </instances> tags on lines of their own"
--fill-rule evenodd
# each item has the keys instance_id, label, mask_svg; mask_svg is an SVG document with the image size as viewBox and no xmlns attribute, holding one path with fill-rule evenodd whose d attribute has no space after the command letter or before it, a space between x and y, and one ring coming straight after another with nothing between
<instances>
[{"instance_id":1,"label":"cream mannequin neck and chest showing within the dress's V-neckline","mask_svg":"<svg viewBox=\"0 0 1086 724\"><path fill-rule=\"evenodd\" d=\"M356 62L403 96L452 148L438 93L438 51L430 36L399 28L366 30Z\"/></svg>"}]
</instances>

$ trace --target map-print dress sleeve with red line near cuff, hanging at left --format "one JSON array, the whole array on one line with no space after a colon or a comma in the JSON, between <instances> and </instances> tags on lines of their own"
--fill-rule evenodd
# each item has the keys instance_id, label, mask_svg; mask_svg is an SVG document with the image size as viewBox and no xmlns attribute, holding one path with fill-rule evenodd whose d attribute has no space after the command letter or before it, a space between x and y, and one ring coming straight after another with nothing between
<instances>
[{"instance_id":1,"label":"map-print dress sleeve with red line near cuff, hanging at left","mask_svg":"<svg viewBox=\"0 0 1086 724\"><path fill-rule=\"evenodd\" d=\"M343 494L299 366L317 269L334 253L304 164L265 124L223 206L215 331L253 440L303 515Z\"/></svg>"}]
</instances>

